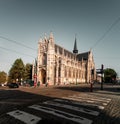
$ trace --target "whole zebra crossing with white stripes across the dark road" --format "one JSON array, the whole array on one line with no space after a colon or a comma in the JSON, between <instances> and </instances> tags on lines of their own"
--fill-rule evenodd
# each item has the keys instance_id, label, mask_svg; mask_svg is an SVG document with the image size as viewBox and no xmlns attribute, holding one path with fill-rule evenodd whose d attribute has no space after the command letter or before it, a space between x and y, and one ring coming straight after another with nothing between
<instances>
[{"instance_id":1,"label":"whole zebra crossing with white stripes across the dark road","mask_svg":"<svg viewBox=\"0 0 120 124\"><path fill-rule=\"evenodd\" d=\"M110 101L111 99L105 96L82 93L33 104L27 107L32 111L30 113L26 110L15 110L7 114L20 120L21 124L22 122L37 124L43 118L48 118L47 116L43 117L42 114L39 117L35 113L49 114L52 118L64 119L73 124L92 124L94 118L99 116ZM35 111L34 114L33 111Z\"/></svg>"}]
</instances>

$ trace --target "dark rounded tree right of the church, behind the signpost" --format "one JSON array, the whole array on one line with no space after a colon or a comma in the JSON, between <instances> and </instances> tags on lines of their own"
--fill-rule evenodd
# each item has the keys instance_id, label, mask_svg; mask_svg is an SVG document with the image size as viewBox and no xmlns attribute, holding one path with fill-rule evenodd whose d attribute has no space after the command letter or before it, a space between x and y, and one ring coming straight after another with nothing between
<instances>
[{"instance_id":1,"label":"dark rounded tree right of the church, behind the signpost","mask_svg":"<svg viewBox=\"0 0 120 124\"><path fill-rule=\"evenodd\" d=\"M104 80L106 83L114 83L116 81L117 73L114 69L107 68L104 70Z\"/></svg>"}]
</instances>

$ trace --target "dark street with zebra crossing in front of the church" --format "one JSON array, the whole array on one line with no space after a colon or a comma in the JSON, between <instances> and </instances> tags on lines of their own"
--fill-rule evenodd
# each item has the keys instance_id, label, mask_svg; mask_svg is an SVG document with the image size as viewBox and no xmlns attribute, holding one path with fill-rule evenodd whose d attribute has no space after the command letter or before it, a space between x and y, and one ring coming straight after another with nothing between
<instances>
[{"instance_id":1,"label":"dark street with zebra crossing in front of the church","mask_svg":"<svg viewBox=\"0 0 120 124\"><path fill-rule=\"evenodd\" d=\"M0 87L0 124L118 124L120 86Z\"/></svg>"}]
</instances>

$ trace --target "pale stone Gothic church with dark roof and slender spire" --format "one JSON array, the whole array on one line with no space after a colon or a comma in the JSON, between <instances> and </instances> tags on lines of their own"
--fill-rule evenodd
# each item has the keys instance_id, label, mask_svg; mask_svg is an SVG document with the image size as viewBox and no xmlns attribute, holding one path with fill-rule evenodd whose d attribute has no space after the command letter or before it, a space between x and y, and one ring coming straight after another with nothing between
<instances>
[{"instance_id":1,"label":"pale stone Gothic church with dark roof and slender spire","mask_svg":"<svg viewBox=\"0 0 120 124\"><path fill-rule=\"evenodd\" d=\"M33 77L40 84L63 85L89 83L96 77L91 50L78 53L75 39L73 52L55 44L53 34L38 42L38 56ZM91 73L91 70L93 70Z\"/></svg>"}]
</instances>

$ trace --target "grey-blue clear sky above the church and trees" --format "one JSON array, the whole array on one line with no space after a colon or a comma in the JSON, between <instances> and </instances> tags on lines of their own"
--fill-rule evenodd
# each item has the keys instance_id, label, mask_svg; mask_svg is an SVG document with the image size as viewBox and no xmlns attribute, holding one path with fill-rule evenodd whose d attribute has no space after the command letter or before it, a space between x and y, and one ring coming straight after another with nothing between
<instances>
[{"instance_id":1,"label":"grey-blue clear sky above the church and trees","mask_svg":"<svg viewBox=\"0 0 120 124\"><path fill-rule=\"evenodd\" d=\"M0 71L21 58L33 63L38 41L53 33L72 52L92 50L96 69L120 76L120 0L0 0Z\"/></svg>"}]
</instances>

